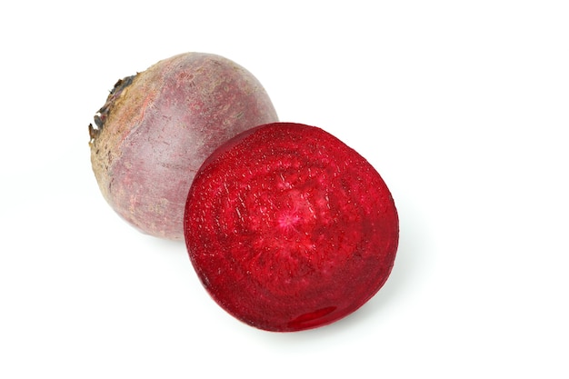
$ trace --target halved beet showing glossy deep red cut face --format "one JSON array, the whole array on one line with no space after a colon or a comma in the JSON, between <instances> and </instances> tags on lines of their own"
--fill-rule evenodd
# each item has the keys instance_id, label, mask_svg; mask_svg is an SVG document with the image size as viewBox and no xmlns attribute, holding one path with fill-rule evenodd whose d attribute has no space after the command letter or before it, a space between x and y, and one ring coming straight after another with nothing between
<instances>
[{"instance_id":1,"label":"halved beet showing glossy deep red cut face","mask_svg":"<svg viewBox=\"0 0 569 379\"><path fill-rule=\"evenodd\" d=\"M185 204L186 246L208 293L275 332L353 313L387 280L398 238L374 167L308 125L237 135L207 158Z\"/></svg>"}]
</instances>

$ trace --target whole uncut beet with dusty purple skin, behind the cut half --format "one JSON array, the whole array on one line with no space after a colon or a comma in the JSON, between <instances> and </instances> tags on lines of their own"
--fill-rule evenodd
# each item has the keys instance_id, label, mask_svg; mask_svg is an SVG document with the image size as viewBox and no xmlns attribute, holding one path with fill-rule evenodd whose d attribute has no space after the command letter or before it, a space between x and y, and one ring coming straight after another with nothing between
<instances>
[{"instance_id":1,"label":"whole uncut beet with dusty purple skin, behind the cut half","mask_svg":"<svg viewBox=\"0 0 569 379\"><path fill-rule=\"evenodd\" d=\"M181 240L186 196L205 158L275 121L269 96L245 68L219 55L175 55L115 85L89 125L93 171L127 222Z\"/></svg>"}]
</instances>

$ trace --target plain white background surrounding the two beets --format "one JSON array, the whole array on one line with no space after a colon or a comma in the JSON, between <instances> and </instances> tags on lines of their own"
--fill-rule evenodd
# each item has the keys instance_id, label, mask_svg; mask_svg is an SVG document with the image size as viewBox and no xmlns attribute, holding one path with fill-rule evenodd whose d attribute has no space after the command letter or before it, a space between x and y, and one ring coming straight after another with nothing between
<instances>
[{"instance_id":1,"label":"plain white background surrounding the two beets","mask_svg":"<svg viewBox=\"0 0 569 379\"><path fill-rule=\"evenodd\" d=\"M3 3L0 377L569 377L568 8ZM186 51L244 65L281 120L384 177L400 248L355 314L294 334L241 324L183 243L105 203L87 125L118 78Z\"/></svg>"}]
</instances>

